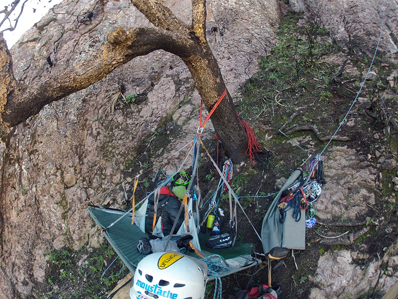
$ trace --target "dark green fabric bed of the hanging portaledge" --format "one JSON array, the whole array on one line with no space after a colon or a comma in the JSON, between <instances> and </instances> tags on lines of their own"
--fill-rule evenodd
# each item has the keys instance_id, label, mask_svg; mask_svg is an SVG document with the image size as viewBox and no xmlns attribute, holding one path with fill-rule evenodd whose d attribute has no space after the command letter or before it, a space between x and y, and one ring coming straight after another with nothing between
<instances>
[{"instance_id":1,"label":"dark green fabric bed of the hanging portaledge","mask_svg":"<svg viewBox=\"0 0 398 299\"><path fill-rule=\"evenodd\" d=\"M89 213L93 217L94 221L100 228L106 228L111 223L116 221L120 216L122 216L125 211L105 208L100 206L88 205L87 206ZM127 268L134 273L135 268L138 265L138 262L141 261L145 255L140 254L137 251L138 240L147 237L145 233L143 233L138 226L131 225L131 213L127 214L123 218L121 218L118 222L116 222L113 226L103 232L103 235L108 240L110 245L113 247L117 255L123 261L123 263L127 266ZM199 242L203 252L210 254L218 254L222 256L225 260L245 256L247 255L250 258L250 253L252 251L252 244L250 243L242 243L235 242L235 245L231 248L223 248L223 249L211 249L206 247L206 240L211 236L205 234L199 234ZM195 257L196 254L191 254L187 252L188 255ZM224 275L228 275L248 267L254 266L258 264L260 261L253 258L252 262L247 266L230 269L230 271ZM224 276L221 275L221 276Z\"/></svg>"}]
</instances>

